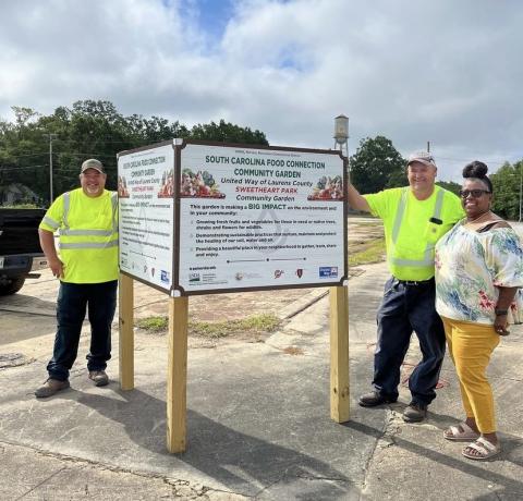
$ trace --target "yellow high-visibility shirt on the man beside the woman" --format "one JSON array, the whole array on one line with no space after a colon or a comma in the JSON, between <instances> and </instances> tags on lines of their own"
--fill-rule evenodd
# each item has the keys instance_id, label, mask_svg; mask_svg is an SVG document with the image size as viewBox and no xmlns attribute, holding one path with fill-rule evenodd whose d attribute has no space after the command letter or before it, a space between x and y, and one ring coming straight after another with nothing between
<instances>
[{"instance_id":1,"label":"yellow high-visibility shirt on the man beside the woman","mask_svg":"<svg viewBox=\"0 0 523 501\"><path fill-rule=\"evenodd\" d=\"M434 247L464 217L460 198L435 186L426 200L418 200L409 186L364 195L374 216L382 219L387 262L399 280L434 277Z\"/></svg>"}]
</instances>

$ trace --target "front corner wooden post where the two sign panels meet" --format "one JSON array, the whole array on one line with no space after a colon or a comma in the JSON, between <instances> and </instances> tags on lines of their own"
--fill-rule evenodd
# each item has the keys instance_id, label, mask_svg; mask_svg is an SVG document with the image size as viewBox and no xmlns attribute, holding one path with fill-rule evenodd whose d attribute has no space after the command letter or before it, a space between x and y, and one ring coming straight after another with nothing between
<instances>
[{"instance_id":1,"label":"front corner wooden post where the two sign panels meet","mask_svg":"<svg viewBox=\"0 0 523 501\"><path fill-rule=\"evenodd\" d=\"M188 297L169 298L167 449L185 451Z\"/></svg>"}]
</instances>

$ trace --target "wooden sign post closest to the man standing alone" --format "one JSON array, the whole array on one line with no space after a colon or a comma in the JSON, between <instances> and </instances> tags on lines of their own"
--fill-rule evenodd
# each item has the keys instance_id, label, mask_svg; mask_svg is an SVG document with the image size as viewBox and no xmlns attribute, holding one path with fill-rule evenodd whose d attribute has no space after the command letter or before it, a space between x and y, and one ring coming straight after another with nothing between
<instances>
[{"instance_id":1,"label":"wooden sign post closest to the man standing alone","mask_svg":"<svg viewBox=\"0 0 523 501\"><path fill-rule=\"evenodd\" d=\"M120 388L134 389L134 282L120 273Z\"/></svg>"}]
</instances>

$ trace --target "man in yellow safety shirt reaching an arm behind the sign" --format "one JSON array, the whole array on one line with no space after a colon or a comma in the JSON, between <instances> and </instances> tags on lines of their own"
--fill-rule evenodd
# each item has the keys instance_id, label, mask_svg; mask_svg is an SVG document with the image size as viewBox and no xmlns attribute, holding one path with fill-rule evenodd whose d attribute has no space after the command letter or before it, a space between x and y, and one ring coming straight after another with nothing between
<instances>
[{"instance_id":1,"label":"man in yellow safety shirt reaching an arm behind the sign","mask_svg":"<svg viewBox=\"0 0 523 501\"><path fill-rule=\"evenodd\" d=\"M409 378L412 400L403 419L417 423L436 398L445 355L443 326L435 307L434 247L464 213L458 196L435 184L437 167L430 154L411 155L406 173L409 186L372 195L361 195L349 184L348 199L354 209L384 221L392 274L377 314L374 391L358 403L373 407L398 400L401 364L414 331L423 358Z\"/></svg>"}]
</instances>

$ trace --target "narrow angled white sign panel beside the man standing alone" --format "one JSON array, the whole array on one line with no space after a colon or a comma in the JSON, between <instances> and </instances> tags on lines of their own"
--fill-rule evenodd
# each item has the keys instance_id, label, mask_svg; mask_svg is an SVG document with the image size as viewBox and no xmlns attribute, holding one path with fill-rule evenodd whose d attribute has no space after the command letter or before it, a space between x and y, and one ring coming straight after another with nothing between
<instances>
[{"instance_id":1,"label":"narrow angled white sign panel beside the man standing alone","mask_svg":"<svg viewBox=\"0 0 523 501\"><path fill-rule=\"evenodd\" d=\"M118 159L120 269L170 291L173 283L174 149L172 144Z\"/></svg>"}]
</instances>

